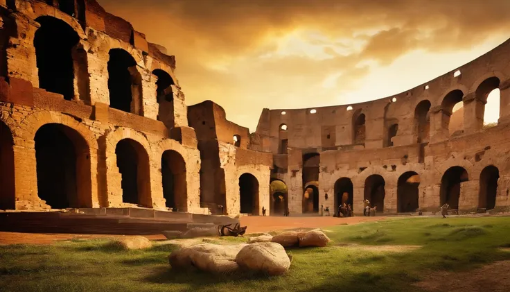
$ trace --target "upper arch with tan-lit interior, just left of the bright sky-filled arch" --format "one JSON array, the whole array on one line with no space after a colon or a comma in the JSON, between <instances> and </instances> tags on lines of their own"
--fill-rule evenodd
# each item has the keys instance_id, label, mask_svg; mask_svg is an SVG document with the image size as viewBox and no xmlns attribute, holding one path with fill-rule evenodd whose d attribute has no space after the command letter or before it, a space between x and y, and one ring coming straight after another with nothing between
<instances>
[{"instance_id":1,"label":"upper arch with tan-lit interior, just left of the bright sky-filled arch","mask_svg":"<svg viewBox=\"0 0 510 292\"><path fill-rule=\"evenodd\" d=\"M452 90L443 98L443 126L448 128L449 135L464 131L464 108L462 98L464 93L459 89Z\"/></svg>"}]
</instances>

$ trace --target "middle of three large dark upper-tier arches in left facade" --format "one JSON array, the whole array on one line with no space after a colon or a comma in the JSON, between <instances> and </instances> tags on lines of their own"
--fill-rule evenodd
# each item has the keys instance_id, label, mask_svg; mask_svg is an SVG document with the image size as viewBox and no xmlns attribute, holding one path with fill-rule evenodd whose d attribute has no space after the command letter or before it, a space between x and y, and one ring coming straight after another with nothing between
<instances>
[{"instance_id":1,"label":"middle of three large dark upper-tier arches in left facade","mask_svg":"<svg viewBox=\"0 0 510 292\"><path fill-rule=\"evenodd\" d=\"M137 62L123 49L111 49L108 60L109 106L123 112L141 112L141 75Z\"/></svg>"}]
</instances>

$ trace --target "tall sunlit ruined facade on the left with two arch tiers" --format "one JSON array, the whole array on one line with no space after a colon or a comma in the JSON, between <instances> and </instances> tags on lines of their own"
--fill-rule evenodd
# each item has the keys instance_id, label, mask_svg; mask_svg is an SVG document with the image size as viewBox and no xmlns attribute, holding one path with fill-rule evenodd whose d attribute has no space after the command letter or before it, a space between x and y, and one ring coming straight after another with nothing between
<instances>
[{"instance_id":1,"label":"tall sunlit ruined facade on the left with two arch tiers","mask_svg":"<svg viewBox=\"0 0 510 292\"><path fill-rule=\"evenodd\" d=\"M249 212L264 205L272 155L247 150L247 131L240 144L224 143L217 105L203 109L217 130L198 128L198 144L164 47L94 0L3 0L0 16L0 209L236 215L245 173ZM216 157L199 151L208 137ZM209 187L220 169L223 183L213 183L222 197L201 196L201 178Z\"/></svg>"}]
</instances>

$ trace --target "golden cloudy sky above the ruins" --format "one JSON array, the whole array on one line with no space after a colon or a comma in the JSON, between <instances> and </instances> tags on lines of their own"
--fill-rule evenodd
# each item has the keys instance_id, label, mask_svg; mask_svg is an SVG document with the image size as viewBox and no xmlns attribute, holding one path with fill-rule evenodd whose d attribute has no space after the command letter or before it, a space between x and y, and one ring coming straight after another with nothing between
<instances>
[{"instance_id":1,"label":"golden cloudy sky above the ruins","mask_svg":"<svg viewBox=\"0 0 510 292\"><path fill-rule=\"evenodd\" d=\"M510 38L508 0L98 2L176 56L188 105L210 99L251 131L263 108L383 98Z\"/></svg>"}]
</instances>

